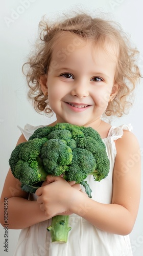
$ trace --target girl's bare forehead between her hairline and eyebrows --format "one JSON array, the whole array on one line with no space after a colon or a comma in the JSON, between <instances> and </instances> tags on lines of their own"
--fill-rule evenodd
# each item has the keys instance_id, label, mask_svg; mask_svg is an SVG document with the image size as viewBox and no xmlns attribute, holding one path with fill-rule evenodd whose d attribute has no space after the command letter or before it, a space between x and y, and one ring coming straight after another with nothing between
<instances>
[{"instance_id":1,"label":"girl's bare forehead between her hairline and eyebrows","mask_svg":"<svg viewBox=\"0 0 143 256\"><path fill-rule=\"evenodd\" d=\"M118 58L118 45L113 42L110 38L106 37L99 40L94 40L94 38L83 38L78 34L61 31L59 35L55 38L55 43L53 45L52 57L62 56L62 54L68 56L73 54L78 54L78 50L90 49L90 53L94 60L96 57L109 58L113 62L117 62Z\"/></svg>"}]
</instances>

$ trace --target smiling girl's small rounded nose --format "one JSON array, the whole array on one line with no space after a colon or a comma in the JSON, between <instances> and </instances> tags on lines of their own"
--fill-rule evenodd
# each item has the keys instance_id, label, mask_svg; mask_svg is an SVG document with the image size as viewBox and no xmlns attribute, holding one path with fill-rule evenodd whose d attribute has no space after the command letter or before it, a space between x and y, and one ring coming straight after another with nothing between
<instances>
[{"instance_id":1,"label":"smiling girl's small rounded nose","mask_svg":"<svg viewBox=\"0 0 143 256\"><path fill-rule=\"evenodd\" d=\"M79 98L87 97L89 92L86 84L75 84L74 88L71 90L71 95Z\"/></svg>"}]
</instances>

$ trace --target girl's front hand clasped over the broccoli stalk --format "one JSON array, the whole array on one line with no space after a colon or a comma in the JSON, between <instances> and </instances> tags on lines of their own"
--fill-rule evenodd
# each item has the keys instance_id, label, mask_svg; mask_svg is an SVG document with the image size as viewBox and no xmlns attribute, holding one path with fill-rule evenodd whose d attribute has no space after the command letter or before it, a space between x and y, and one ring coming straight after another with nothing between
<instances>
[{"instance_id":1,"label":"girl's front hand clasped over the broccoli stalk","mask_svg":"<svg viewBox=\"0 0 143 256\"><path fill-rule=\"evenodd\" d=\"M80 190L80 184L75 184L75 181L67 182L62 177L49 175L42 186L36 190L37 202L49 218L58 214L69 215L71 214L70 205Z\"/></svg>"}]
</instances>

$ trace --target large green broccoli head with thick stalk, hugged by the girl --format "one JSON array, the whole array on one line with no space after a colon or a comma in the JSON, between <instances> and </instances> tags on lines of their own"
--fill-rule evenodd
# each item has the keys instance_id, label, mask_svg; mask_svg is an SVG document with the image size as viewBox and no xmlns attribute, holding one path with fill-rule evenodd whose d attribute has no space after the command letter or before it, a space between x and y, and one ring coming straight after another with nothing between
<instances>
[{"instance_id":1,"label":"large green broccoli head with thick stalk, hugged by the girl","mask_svg":"<svg viewBox=\"0 0 143 256\"><path fill-rule=\"evenodd\" d=\"M85 187L91 198L91 188L85 181L93 175L101 181L109 173L106 147L97 131L91 127L57 123L37 129L13 150L9 164L13 176L21 182L21 189L35 193L47 175L64 174L67 181L76 181ZM62 188L61 188L62 189ZM66 243L69 216L54 216L47 228L52 242Z\"/></svg>"}]
</instances>

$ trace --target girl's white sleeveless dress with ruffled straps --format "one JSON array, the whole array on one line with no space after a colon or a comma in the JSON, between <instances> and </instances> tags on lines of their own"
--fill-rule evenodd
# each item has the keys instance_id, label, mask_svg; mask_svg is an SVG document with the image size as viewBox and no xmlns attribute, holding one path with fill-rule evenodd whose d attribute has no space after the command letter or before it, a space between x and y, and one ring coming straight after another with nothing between
<instances>
[{"instance_id":1,"label":"girl's white sleeveless dress with ruffled straps","mask_svg":"<svg viewBox=\"0 0 143 256\"><path fill-rule=\"evenodd\" d=\"M28 124L25 130L19 128L28 140L38 127L41 126L34 127ZM114 141L122 137L123 130L131 131L131 124L112 126L108 137L103 139L110 160L108 176L100 182L95 182L92 176L87 177L92 189L92 199L104 204L111 203L112 175L116 156ZM33 200L36 200L35 195ZM86 209L86 206L83 209L80 207L80 214L83 217L86 210L90 209ZM51 243L51 234L46 230L50 224L51 219L22 229L13 256L132 256L129 236L102 231L76 214L69 216L71 230L66 244Z\"/></svg>"}]
</instances>

